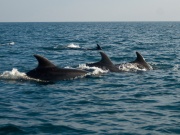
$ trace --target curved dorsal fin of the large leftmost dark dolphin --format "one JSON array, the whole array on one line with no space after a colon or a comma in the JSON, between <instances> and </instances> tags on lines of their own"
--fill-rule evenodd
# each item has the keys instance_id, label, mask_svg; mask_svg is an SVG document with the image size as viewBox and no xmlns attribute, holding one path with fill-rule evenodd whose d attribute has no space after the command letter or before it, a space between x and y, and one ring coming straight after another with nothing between
<instances>
[{"instance_id":1,"label":"curved dorsal fin of the large leftmost dark dolphin","mask_svg":"<svg viewBox=\"0 0 180 135\"><path fill-rule=\"evenodd\" d=\"M38 61L38 67L37 68L44 68L44 67L56 67L53 63L51 63L48 59L35 54L34 57Z\"/></svg>"}]
</instances>

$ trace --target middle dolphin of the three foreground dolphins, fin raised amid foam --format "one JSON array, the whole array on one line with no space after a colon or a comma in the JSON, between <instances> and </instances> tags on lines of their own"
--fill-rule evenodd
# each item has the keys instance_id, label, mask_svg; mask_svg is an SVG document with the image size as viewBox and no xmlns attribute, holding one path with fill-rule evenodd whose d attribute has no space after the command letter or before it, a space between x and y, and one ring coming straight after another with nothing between
<instances>
[{"instance_id":1,"label":"middle dolphin of the three foreground dolphins, fin raised amid foam","mask_svg":"<svg viewBox=\"0 0 180 135\"><path fill-rule=\"evenodd\" d=\"M96 63L87 63L89 67L98 67L103 70L109 70L111 72L121 72L118 67L116 67L110 60L110 58L103 52L100 52L101 60Z\"/></svg>"}]
</instances>

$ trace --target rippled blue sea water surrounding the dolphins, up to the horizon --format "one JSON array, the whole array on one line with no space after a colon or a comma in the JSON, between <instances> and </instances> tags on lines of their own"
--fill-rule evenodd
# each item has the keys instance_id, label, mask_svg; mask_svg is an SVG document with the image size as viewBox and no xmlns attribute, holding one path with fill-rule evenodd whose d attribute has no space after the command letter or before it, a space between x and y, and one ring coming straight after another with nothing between
<instances>
[{"instance_id":1,"label":"rippled blue sea water surrounding the dolphins, up to the horizon","mask_svg":"<svg viewBox=\"0 0 180 135\"><path fill-rule=\"evenodd\" d=\"M115 64L138 51L154 70L23 78L37 66L33 54L79 68L100 60L82 49L97 43ZM0 134L180 134L180 23L0 23Z\"/></svg>"}]
</instances>

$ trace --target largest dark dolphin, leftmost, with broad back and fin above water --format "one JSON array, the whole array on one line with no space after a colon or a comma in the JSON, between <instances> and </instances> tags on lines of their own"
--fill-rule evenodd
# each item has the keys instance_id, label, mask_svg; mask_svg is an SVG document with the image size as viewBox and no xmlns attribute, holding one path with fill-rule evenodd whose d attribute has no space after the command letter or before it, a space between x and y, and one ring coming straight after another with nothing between
<instances>
[{"instance_id":1,"label":"largest dark dolphin, leftmost, with broad back and fin above water","mask_svg":"<svg viewBox=\"0 0 180 135\"><path fill-rule=\"evenodd\" d=\"M51 82L73 79L87 74L84 70L58 68L48 59L40 55L34 55L34 57L38 61L38 66L26 73L26 75L31 78Z\"/></svg>"}]
</instances>

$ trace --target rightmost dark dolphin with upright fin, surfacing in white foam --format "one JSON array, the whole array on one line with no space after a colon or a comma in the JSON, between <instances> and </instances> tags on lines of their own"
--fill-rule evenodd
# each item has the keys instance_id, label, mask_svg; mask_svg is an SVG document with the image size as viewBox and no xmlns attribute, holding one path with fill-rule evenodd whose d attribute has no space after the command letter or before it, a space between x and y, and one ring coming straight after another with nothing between
<instances>
[{"instance_id":1,"label":"rightmost dark dolphin with upright fin, surfacing in white foam","mask_svg":"<svg viewBox=\"0 0 180 135\"><path fill-rule=\"evenodd\" d=\"M137 58L132 61L129 62L130 64L136 66L139 69L145 69L145 70L152 70L153 68L145 61L145 59L143 58L143 56L139 53L136 52ZM122 64L117 64L116 66L119 67Z\"/></svg>"}]
</instances>

